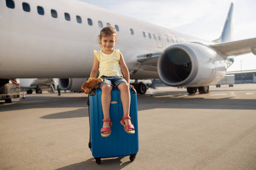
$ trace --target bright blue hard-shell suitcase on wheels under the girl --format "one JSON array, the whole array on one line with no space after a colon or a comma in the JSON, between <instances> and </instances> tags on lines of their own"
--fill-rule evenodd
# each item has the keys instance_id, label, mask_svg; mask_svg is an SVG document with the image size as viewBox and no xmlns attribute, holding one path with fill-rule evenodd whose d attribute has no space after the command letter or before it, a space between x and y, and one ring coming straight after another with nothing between
<instances>
[{"instance_id":1,"label":"bright blue hard-shell suitcase on wheels under the girl","mask_svg":"<svg viewBox=\"0 0 256 170\"><path fill-rule=\"evenodd\" d=\"M120 120L122 120L123 115L120 91L118 89L113 89L111 91L110 104L110 118L113 125L111 126L111 135L105 138L102 137L100 133L100 129L103 125L101 94L101 89L93 89L88 95L87 101L90 120L89 148L93 154L93 157L96 159L97 164L101 163L102 158L119 156L130 156L130 160L134 161L139 150L136 91L134 88L130 88L130 116L131 123L134 125L135 133L126 133L124 127L120 124Z\"/></svg>"}]
</instances>

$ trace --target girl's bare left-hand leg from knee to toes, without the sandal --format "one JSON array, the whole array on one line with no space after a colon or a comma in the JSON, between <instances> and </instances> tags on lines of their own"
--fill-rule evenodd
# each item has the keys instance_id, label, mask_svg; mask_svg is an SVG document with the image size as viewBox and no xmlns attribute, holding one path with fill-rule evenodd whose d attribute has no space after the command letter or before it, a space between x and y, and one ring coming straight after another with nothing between
<instances>
[{"instance_id":1,"label":"girl's bare left-hand leg from knee to toes, without the sandal","mask_svg":"<svg viewBox=\"0 0 256 170\"><path fill-rule=\"evenodd\" d=\"M111 102L111 90L112 90L111 85L103 85L102 87L102 110L103 110L103 117L104 119L110 119L109 116L109 108L110 108L110 102ZM106 121L103 122L103 127L110 127L110 122ZM102 132L102 133L108 133L108 132Z\"/></svg>"}]
</instances>

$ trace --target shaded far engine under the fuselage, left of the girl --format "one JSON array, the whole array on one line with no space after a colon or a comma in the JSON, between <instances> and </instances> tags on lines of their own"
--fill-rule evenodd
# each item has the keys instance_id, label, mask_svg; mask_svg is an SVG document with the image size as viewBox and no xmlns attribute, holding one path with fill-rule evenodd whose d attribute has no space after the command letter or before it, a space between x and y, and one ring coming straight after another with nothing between
<instances>
[{"instance_id":1,"label":"shaded far engine under the fuselage, left of the girl","mask_svg":"<svg viewBox=\"0 0 256 170\"><path fill-rule=\"evenodd\" d=\"M86 81L87 78L59 79L59 84L62 90L80 91L81 86Z\"/></svg>"}]
</instances>

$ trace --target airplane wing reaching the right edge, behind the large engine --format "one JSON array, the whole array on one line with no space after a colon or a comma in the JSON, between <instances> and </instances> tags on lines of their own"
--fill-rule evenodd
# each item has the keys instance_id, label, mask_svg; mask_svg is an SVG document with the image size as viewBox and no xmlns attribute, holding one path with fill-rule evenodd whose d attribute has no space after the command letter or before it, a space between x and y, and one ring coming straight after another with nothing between
<instances>
[{"instance_id":1,"label":"airplane wing reaching the right edge, behind the large engine","mask_svg":"<svg viewBox=\"0 0 256 170\"><path fill-rule=\"evenodd\" d=\"M251 52L256 55L256 38L232 42L223 42L209 46L227 56L238 56Z\"/></svg>"}]
</instances>

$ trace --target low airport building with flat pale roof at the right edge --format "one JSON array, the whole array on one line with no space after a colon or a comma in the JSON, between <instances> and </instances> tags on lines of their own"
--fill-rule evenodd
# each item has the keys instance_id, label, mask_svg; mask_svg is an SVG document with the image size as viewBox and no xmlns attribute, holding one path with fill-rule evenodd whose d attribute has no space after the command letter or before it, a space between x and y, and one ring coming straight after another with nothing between
<instances>
[{"instance_id":1,"label":"low airport building with flat pale roof at the right edge","mask_svg":"<svg viewBox=\"0 0 256 170\"><path fill-rule=\"evenodd\" d=\"M235 84L256 83L256 70L227 72L235 74Z\"/></svg>"}]
</instances>

